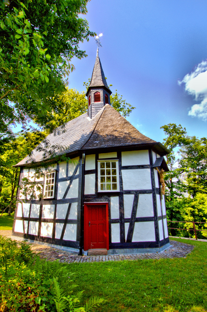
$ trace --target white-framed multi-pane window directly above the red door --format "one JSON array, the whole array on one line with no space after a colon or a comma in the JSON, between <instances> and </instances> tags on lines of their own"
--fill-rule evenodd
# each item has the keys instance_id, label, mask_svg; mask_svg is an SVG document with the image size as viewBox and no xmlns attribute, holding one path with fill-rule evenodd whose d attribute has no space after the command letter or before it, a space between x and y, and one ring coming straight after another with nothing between
<instances>
[{"instance_id":1,"label":"white-framed multi-pane window directly above the red door","mask_svg":"<svg viewBox=\"0 0 207 312\"><path fill-rule=\"evenodd\" d=\"M119 191L118 160L98 160L98 192Z\"/></svg>"}]
</instances>

